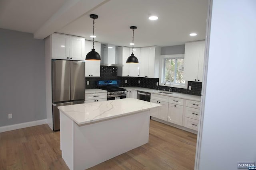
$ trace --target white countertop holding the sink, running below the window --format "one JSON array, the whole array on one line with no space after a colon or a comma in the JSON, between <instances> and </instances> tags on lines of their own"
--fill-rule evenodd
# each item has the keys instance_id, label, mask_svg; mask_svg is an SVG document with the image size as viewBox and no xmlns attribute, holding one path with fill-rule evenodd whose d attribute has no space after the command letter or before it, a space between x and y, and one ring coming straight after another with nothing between
<instances>
[{"instance_id":1,"label":"white countertop holding the sink, running below the window","mask_svg":"<svg viewBox=\"0 0 256 170\"><path fill-rule=\"evenodd\" d=\"M196 95L191 95L191 94L183 94L183 93L176 93L176 92L171 92L172 94L164 94L164 93L159 93L159 92L162 92L162 90L141 88L141 87L122 87L122 88L125 88L126 90L138 90L138 91L142 91L142 92L160 94L160 95L170 96L170 97L174 97L174 98L194 100L194 101L198 101L198 102L201 101L201 96L196 96Z\"/></svg>"}]
</instances>

